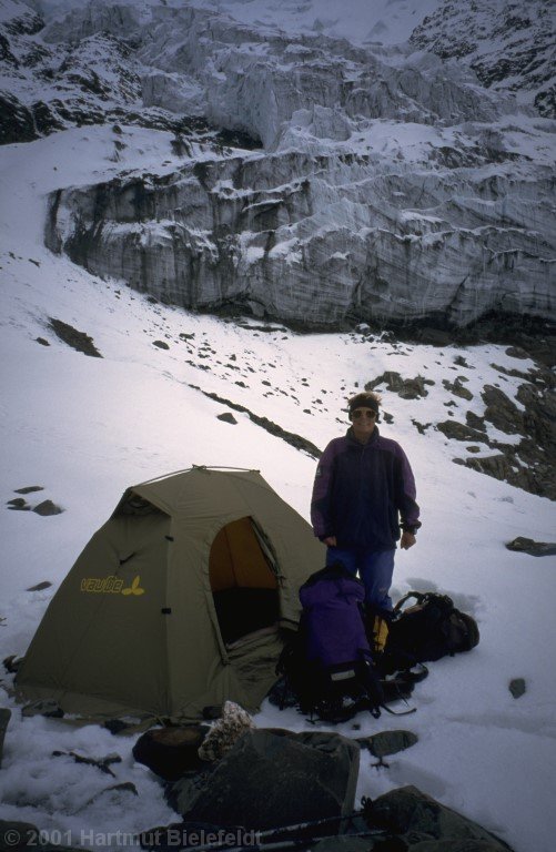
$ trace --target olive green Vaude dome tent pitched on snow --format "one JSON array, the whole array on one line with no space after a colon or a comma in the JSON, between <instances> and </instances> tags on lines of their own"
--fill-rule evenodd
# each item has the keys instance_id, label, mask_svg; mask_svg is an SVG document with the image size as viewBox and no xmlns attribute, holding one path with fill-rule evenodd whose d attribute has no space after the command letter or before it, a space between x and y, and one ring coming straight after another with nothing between
<instances>
[{"instance_id":1,"label":"olive green Vaude dome tent pitched on snow","mask_svg":"<svg viewBox=\"0 0 556 852\"><path fill-rule=\"evenodd\" d=\"M16 679L68 713L191 720L254 711L299 588L324 565L255 470L193 467L129 488L53 597Z\"/></svg>"}]
</instances>

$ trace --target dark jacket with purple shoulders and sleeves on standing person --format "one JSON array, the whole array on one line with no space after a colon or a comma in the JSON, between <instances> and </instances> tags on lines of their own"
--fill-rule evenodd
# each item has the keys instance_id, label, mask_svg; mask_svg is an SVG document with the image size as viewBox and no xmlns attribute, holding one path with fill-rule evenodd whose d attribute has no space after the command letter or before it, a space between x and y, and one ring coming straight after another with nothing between
<instances>
[{"instance_id":1,"label":"dark jacket with purple shoulders and sleeves on standing person","mask_svg":"<svg viewBox=\"0 0 556 852\"><path fill-rule=\"evenodd\" d=\"M400 526L421 526L415 479L407 456L375 427L367 444L350 428L334 438L319 460L311 521L319 538L335 536L342 548L391 550Z\"/></svg>"}]
</instances>

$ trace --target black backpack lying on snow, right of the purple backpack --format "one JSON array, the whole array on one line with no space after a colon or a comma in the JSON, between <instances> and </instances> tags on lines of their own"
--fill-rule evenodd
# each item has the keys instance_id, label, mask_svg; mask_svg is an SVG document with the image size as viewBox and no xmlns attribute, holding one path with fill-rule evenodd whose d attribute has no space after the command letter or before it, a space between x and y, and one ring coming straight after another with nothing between
<instances>
[{"instance_id":1,"label":"black backpack lying on snow, right of the purple backpack","mask_svg":"<svg viewBox=\"0 0 556 852\"><path fill-rule=\"evenodd\" d=\"M404 609L415 598L415 604ZM454 607L447 595L410 591L394 607L384 652L377 665L384 672L469 651L479 641L477 622Z\"/></svg>"}]
</instances>

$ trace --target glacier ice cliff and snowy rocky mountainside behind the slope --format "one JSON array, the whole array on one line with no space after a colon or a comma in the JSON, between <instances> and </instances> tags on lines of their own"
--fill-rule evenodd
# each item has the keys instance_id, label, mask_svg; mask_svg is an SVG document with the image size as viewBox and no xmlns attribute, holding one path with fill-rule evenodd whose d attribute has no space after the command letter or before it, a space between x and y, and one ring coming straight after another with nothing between
<instances>
[{"instance_id":1,"label":"glacier ice cliff and snowy rocky mountainside behind the slope","mask_svg":"<svg viewBox=\"0 0 556 852\"><path fill-rule=\"evenodd\" d=\"M111 175L60 175L48 247L313 327L554 320L552 4L367 6L2 0L2 141L112 126ZM133 125L161 133L149 173Z\"/></svg>"}]
</instances>

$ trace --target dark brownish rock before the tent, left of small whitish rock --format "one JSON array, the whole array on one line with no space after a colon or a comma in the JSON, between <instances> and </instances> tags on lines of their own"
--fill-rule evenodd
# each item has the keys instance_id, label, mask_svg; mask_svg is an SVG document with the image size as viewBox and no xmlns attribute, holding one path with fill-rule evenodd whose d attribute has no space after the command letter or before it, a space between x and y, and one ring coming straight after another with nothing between
<instances>
[{"instance_id":1,"label":"dark brownish rock before the tent, left of small whitish rock","mask_svg":"<svg viewBox=\"0 0 556 852\"><path fill-rule=\"evenodd\" d=\"M204 724L152 728L135 742L133 757L165 781L176 781L203 768L199 747L208 731Z\"/></svg>"}]
</instances>

